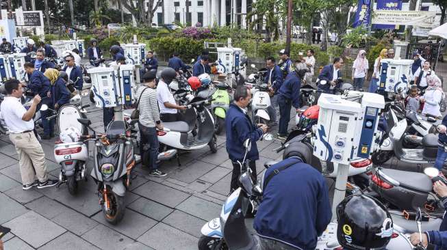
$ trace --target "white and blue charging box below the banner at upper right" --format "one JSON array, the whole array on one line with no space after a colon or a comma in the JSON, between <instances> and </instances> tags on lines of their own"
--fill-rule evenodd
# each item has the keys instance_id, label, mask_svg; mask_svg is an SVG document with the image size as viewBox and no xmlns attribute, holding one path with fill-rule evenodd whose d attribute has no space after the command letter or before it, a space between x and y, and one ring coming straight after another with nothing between
<instances>
[{"instance_id":1,"label":"white and blue charging box below the banner at upper right","mask_svg":"<svg viewBox=\"0 0 447 250\"><path fill-rule=\"evenodd\" d=\"M381 59L379 90L406 93L409 85L411 59Z\"/></svg>"}]
</instances>

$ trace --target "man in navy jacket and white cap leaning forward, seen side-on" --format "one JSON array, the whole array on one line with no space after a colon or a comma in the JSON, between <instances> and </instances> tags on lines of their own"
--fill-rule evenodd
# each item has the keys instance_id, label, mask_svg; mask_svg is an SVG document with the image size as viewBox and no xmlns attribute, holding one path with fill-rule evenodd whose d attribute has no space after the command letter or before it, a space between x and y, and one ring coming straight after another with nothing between
<instances>
[{"instance_id":1,"label":"man in navy jacket and white cap leaning forward, seen side-on","mask_svg":"<svg viewBox=\"0 0 447 250\"><path fill-rule=\"evenodd\" d=\"M281 88L279 88L278 105L281 115L279 117L279 139L285 139L287 137L287 129L290 122L290 108L293 106L297 112L300 108L301 80L306 72L309 72L306 64L296 64L294 72L288 74Z\"/></svg>"}]
</instances>

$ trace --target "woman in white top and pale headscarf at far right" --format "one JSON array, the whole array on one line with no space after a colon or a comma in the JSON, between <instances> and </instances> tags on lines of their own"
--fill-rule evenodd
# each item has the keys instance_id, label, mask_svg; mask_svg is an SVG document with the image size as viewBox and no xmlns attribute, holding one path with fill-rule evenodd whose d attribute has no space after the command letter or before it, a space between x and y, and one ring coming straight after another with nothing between
<instances>
[{"instance_id":1,"label":"woman in white top and pale headscarf at far right","mask_svg":"<svg viewBox=\"0 0 447 250\"><path fill-rule=\"evenodd\" d=\"M439 101L444 97L441 79L435 74L430 74L426 77L426 81L429 87L427 87L424 96L420 99L421 102L424 102L422 114L441 116Z\"/></svg>"}]
</instances>

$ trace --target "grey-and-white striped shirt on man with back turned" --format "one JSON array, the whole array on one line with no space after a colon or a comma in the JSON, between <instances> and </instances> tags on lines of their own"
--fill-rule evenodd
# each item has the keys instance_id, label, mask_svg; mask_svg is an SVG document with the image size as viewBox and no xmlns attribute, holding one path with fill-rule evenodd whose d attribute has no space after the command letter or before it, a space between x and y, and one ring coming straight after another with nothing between
<instances>
[{"instance_id":1,"label":"grey-and-white striped shirt on man with back turned","mask_svg":"<svg viewBox=\"0 0 447 250\"><path fill-rule=\"evenodd\" d=\"M141 95L143 90L144 93ZM138 88L136 98L140 98L140 95L141 100L138 105L138 110L140 110L140 124L148 128L153 128L157 125L156 122L160 120L157 93L155 92L155 89L142 85ZM136 101L138 102L138 100Z\"/></svg>"}]
</instances>

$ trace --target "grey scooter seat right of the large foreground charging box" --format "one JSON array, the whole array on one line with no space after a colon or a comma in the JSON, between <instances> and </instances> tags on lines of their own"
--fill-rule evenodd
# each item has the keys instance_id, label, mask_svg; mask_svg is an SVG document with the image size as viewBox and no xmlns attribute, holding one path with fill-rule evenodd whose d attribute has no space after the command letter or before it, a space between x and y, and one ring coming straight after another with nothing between
<instances>
[{"instance_id":1,"label":"grey scooter seat right of the large foreground charging box","mask_svg":"<svg viewBox=\"0 0 447 250\"><path fill-rule=\"evenodd\" d=\"M425 173L396 169L381 169L381 171L390 178L397 180L400 183L400 186L406 186L409 189L415 189L424 193L429 193L433 189L433 183Z\"/></svg>"}]
</instances>

